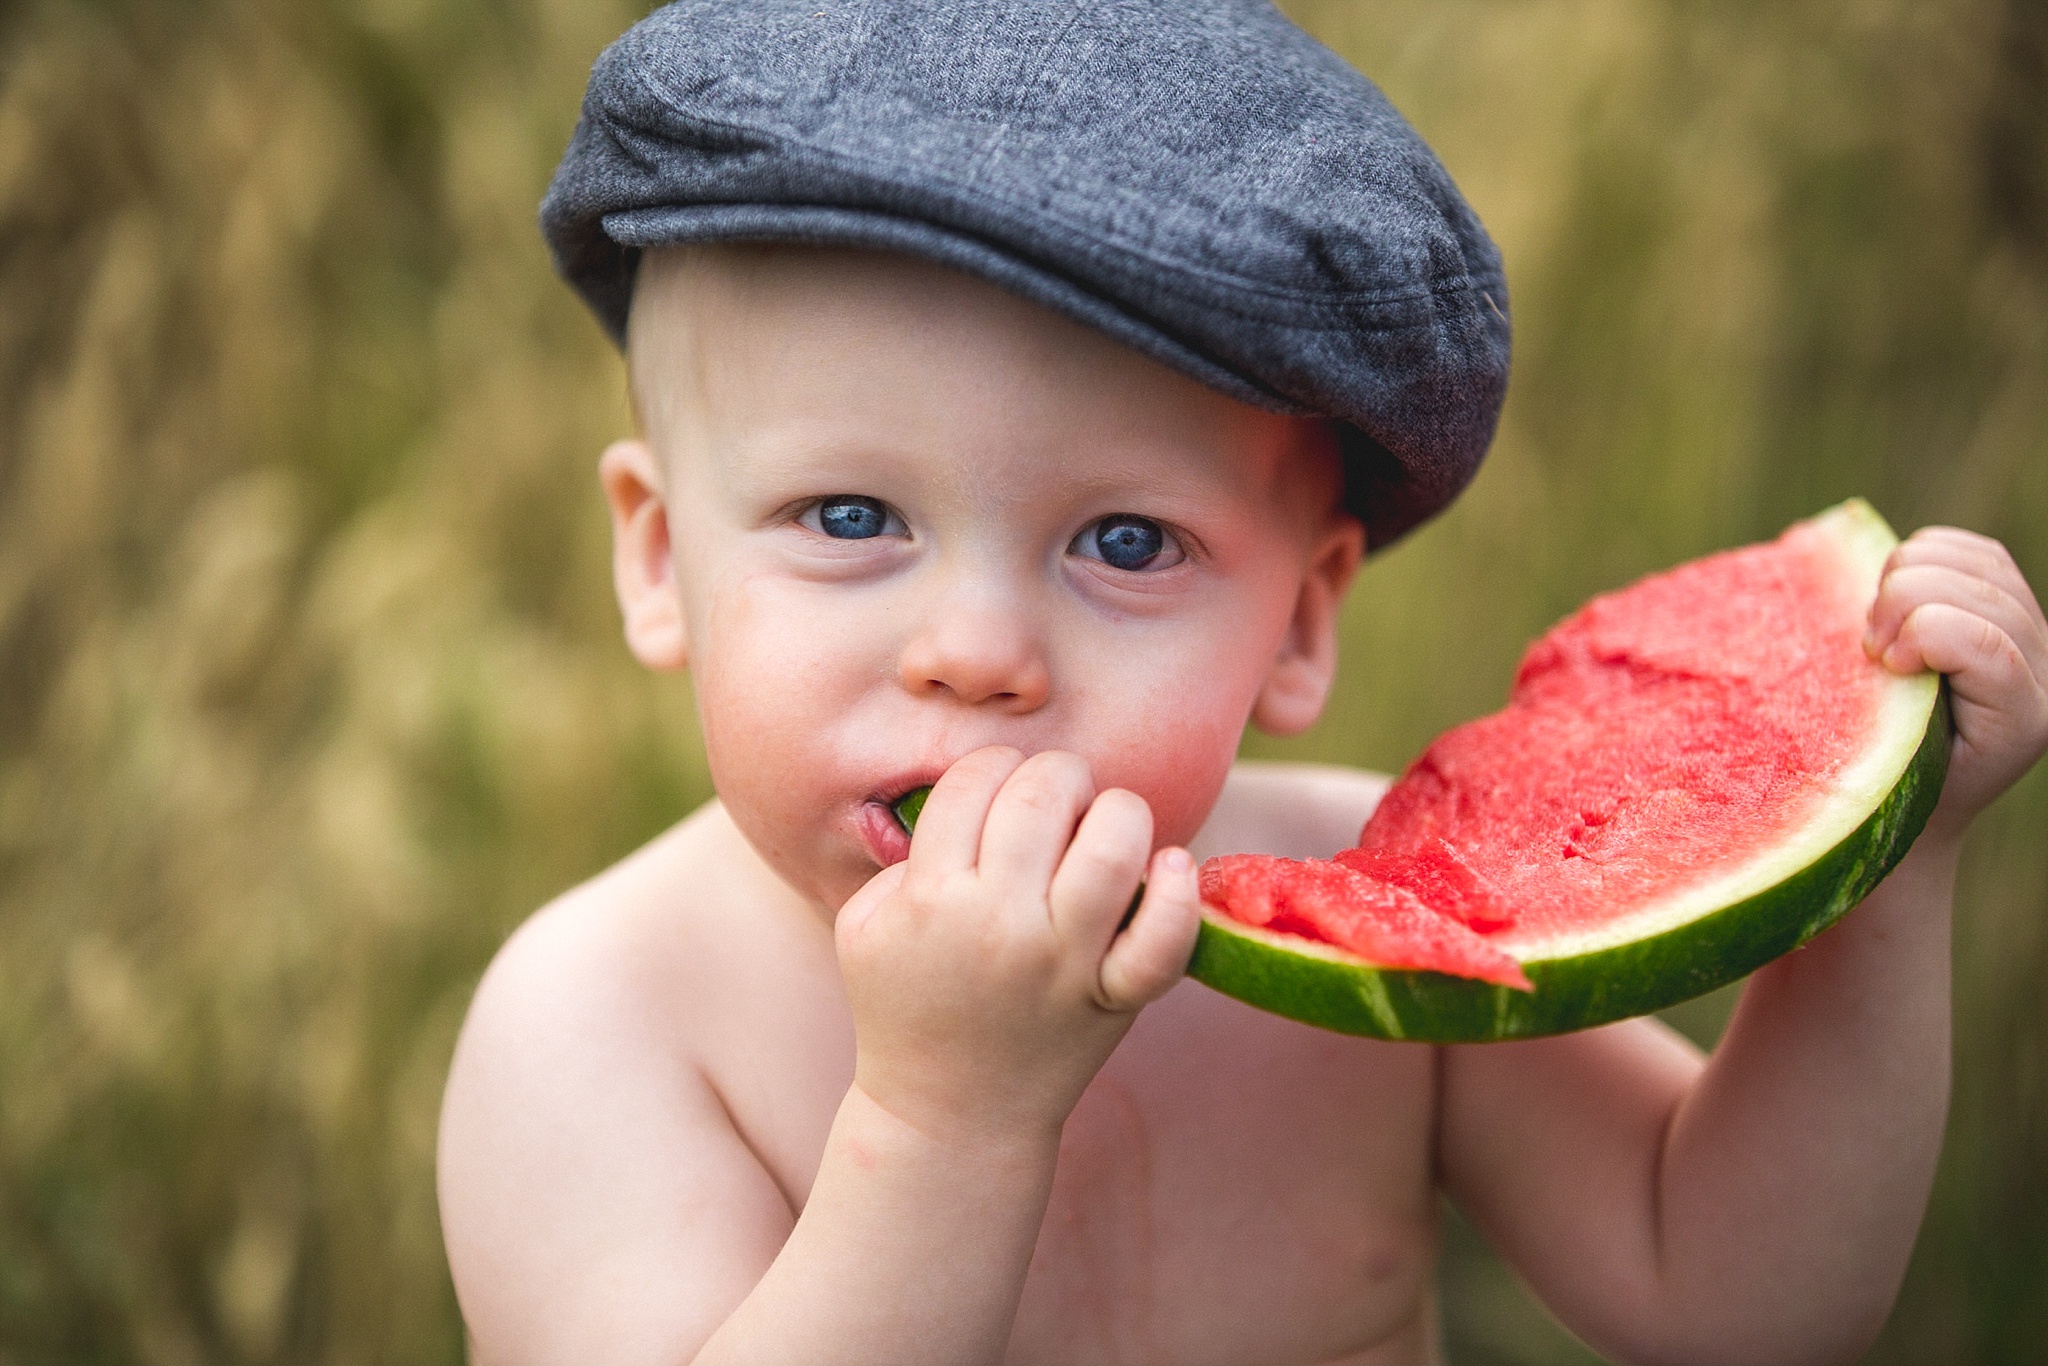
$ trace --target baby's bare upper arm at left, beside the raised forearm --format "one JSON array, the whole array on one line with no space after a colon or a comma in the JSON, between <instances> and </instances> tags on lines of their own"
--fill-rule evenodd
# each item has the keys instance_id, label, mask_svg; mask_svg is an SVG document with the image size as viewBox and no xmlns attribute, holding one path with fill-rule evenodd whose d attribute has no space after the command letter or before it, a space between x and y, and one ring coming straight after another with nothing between
<instances>
[{"instance_id":1,"label":"baby's bare upper arm at left, beside the raised forearm","mask_svg":"<svg viewBox=\"0 0 2048 1366\"><path fill-rule=\"evenodd\" d=\"M684 1362L795 1225L686 1057L664 983L571 897L485 973L440 1108L440 1223L479 1366ZM674 987L670 987L674 989Z\"/></svg>"}]
</instances>

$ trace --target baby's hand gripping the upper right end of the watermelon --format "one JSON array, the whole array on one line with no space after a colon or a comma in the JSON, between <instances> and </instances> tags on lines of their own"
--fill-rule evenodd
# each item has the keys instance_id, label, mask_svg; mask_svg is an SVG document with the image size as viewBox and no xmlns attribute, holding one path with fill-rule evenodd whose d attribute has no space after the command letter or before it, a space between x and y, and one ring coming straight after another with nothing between
<instances>
[{"instance_id":1,"label":"baby's hand gripping the upper right end of the watermelon","mask_svg":"<svg viewBox=\"0 0 2048 1366\"><path fill-rule=\"evenodd\" d=\"M1931 827L1970 817L2048 750L2048 623L2005 547L1929 526L1892 551L1864 647L1901 674L1948 674L1956 748Z\"/></svg>"}]
</instances>

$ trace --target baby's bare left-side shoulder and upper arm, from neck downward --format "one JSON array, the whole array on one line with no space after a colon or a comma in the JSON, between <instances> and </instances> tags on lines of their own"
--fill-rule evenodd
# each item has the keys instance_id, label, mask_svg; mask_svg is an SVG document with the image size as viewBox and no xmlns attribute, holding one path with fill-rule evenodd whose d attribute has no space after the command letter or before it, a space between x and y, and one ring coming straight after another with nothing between
<instances>
[{"instance_id":1,"label":"baby's bare left-side shoulder and upper arm, from neck downward","mask_svg":"<svg viewBox=\"0 0 2048 1366\"><path fill-rule=\"evenodd\" d=\"M715 1063L731 983L760 956L745 926L782 920L772 901L793 893L758 887L733 842L717 805L698 811L537 911L477 985L436 1167L479 1362L606 1360L629 1325L688 1339L743 1294L729 1268L786 1235L786 1194ZM680 1208L717 1210L717 1235L692 1235ZM700 1294L649 1323L629 1309L649 1274Z\"/></svg>"}]
</instances>

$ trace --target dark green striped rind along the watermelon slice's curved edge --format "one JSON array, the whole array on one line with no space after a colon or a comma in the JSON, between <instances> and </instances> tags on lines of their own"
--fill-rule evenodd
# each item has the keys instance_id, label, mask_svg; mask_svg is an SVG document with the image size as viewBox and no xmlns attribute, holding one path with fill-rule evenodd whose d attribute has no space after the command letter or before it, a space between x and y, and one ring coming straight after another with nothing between
<instances>
[{"instance_id":1,"label":"dark green striped rind along the watermelon slice's curved edge","mask_svg":"<svg viewBox=\"0 0 2048 1366\"><path fill-rule=\"evenodd\" d=\"M1860 500L1823 518L1833 535L1853 545L1851 553L1866 563L1874 584L1894 543L1890 528ZM1522 971L1534 991L1374 967L1341 948L1255 930L1210 907L1202 907L1188 975L1303 1024L1411 1042L1536 1038L1677 1006L1806 944L1905 858L1942 797L1952 721L1948 686L1933 676L1896 680L1886 711L1898 702L1913 709L1915 723L1925 717L1919 743L1882 799L1864 807L1870 815L1851 834L1812 858L1796 848L1804 840L1792 840L1794 848L1769 862L1784 866L1784 856L1792 856L1800 864L1729 905L1587 952L1530 954ZM1898 731L1890 735L1890 741L1878 737L1876 748L1905 754L1911 739ZM1868 797L1853 791L1841 795L1841 803L1862 801Z\"/></svg>"}]
</instances>

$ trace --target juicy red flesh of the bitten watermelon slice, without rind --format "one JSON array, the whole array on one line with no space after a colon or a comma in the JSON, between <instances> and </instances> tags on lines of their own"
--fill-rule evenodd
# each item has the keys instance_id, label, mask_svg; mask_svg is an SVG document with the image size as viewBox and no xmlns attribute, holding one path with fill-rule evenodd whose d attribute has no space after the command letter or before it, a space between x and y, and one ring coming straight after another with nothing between
<instances>
[{"instance_id":1,"label":"juicy red flesh of the bitten watermelon slice, without rind","mask_svg":"<svg viewBox=\"0 0 2048 1366\"><path fill-rule=\"evenodd\" d=\"M1812 815L1882 705L1843 555L1802 522L1593 598L1528 649L1503 711L1386 793L1337 856L1356 881L1235 856L1227 879L1204 866L1204 901L1372 965L1505 981L1475 948L1546 956L1741 864ZM1296 885L1315 913L1290 913Z\"/></svg>"}]
</instances>

